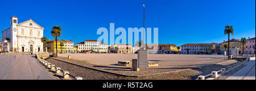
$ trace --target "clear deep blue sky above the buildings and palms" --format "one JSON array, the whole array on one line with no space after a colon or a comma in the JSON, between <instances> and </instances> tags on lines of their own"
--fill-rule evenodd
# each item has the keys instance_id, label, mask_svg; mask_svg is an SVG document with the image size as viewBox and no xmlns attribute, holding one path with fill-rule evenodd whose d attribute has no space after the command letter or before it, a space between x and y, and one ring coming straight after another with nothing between
<instances>
[{"instance_id":1,"label":"clear deep blue sky above the buildings and palms","mask_svg":"<svg viewBox=\"0 0 256 91\"><path fill-rule=\"evenodd\" d=\"M97 29L159 28L159 43L183 45L228 40L224 26L233 25L230 38L255 37L255 0L188 1L0 1L0 31L10 27L10 17L28 19L44 27L44 36L53 39L51 27L60 25L60 39L82 42L97 40ZM2 37L2 34L0 33ZM115 35L115 38L118 35Z\"/></svg>"}]
</instances>

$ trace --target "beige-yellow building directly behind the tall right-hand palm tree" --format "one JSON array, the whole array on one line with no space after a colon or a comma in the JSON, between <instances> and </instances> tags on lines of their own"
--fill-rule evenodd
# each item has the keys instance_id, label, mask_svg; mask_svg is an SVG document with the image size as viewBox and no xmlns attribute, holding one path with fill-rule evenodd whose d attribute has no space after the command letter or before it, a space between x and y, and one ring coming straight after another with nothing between
<instances>
[{"instance_id":1,"label":"beige-yellow building directly behind the tall right-hand palm tree","mask_svg":"<svg viewBox=\"0 0 256 91\"><path fill-rule=\"evenodd\" d=\"M228 48L225 49L224 47L225 44L228 45L228 41L224 41L220 44L221 54L224 54L224 51L228 51ZM232 40L229 40L229 53L231 53L231 49L234 47L237 47L238 49L242 49L243 45L239 39L236 40L233 38Z\"/></svg>"}]
</instances>

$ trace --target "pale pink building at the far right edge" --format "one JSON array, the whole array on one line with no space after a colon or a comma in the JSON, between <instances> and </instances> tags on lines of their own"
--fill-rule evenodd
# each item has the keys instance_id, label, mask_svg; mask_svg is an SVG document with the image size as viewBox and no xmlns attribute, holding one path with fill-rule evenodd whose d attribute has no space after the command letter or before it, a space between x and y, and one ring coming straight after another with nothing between
<instances>
[{"instance_id":1,"label":"pale pink building at the far right edge","mask_svg":"<svg viewBox=\"0 0 256 91\"><path fill-rule=\"evenodd\" d=\"M255 54L255 37L248 38L245 44L245 54Z\"/></svg>"}]
</instances>

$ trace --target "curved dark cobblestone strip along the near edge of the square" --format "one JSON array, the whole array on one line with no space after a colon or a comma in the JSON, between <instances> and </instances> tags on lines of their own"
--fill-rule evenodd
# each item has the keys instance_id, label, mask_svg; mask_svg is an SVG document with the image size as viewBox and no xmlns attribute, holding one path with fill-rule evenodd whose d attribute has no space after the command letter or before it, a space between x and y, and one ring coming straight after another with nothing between
<instances>
[{"instance_id":1,"label":"curved dark cobblestone strip along the near edge of the square","mask_svg":"<svg viewBox=\"0 0 256 91\"><path fill-rule=\"evenodd\" d=\"M157 75L131 77L131 76L115 75L113 73L92 70L87 67L81 67L81 62L68 61L69 63L74 63L74 64L80 63L79 64L80 66L76 66L74 64L61 62L60 60L56 60L56 59L52 59L52 58L47 59L47 61L52 64L55 64L56 67L60 67L62 70L69 71L69 73L71 73L71 75L73 75L73 76L81 76L83 79L89 79L89 80L133 80L133 79L135 79L135 80L137 80L137 79L141 79L141 80L191 80L191 79L196 79L196 77L199 75L207 75L212 71L218 71L221 68L228 67L229 65L236 63L236 60L230 60L230 61L226 61L221 64L213 64L213 65L205 66L202 68L195 68L195 69L170 72L170 73L160 73ZM84 63L82 63L82 64L84 64ZM89 66L89 64L82 65L82 66ZM143 72L143 71L139 71L139 72Z\"/></svg>"}]
</instances>

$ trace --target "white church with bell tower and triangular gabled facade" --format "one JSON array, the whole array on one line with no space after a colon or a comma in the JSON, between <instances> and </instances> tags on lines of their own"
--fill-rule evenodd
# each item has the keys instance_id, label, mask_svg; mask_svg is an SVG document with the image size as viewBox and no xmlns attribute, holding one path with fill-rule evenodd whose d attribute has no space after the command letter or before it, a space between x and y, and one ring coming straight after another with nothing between
<instances>
[{"instance_id":1,"label":"white church with bell tower and triangular gabled facade","mask_svg":"<svg viewBox=\"0 0 256 91\"><path fill-rule=\"evenodd\" d=\"M18 23L18 18L10 18L11 27L2 31L2 49L4 51L43 52L44 28L33 20Z\"/></svg>"}]
</instances>

